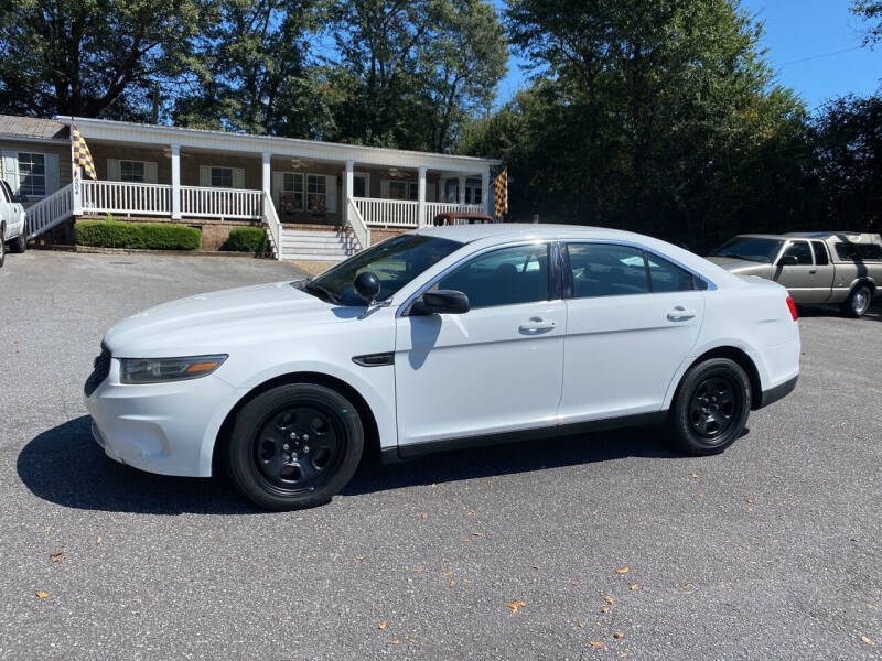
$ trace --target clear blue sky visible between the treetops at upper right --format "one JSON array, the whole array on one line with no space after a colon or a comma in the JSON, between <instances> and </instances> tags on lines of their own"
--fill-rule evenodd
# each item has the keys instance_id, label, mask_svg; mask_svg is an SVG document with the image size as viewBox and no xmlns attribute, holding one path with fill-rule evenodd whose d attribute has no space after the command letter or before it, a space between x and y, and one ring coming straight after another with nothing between
<instances>
[{"instance_id":1,"label":"clear blue sky visible between the treetops at upper right","mask_svg":"<svg viewBox=\"0 0 882 661\"><path fill-rule=\"evenodd\" d=\"M849 0L741 0L743 9L765 23L762 46L777 83L796 91L809 110L830 97L868 95L882 85L882 44L875 50L861 46L863 23L849 12ZM528 85L518 66L521 62L509 59L498 102Z\"/></svg>"}]
</instances>

